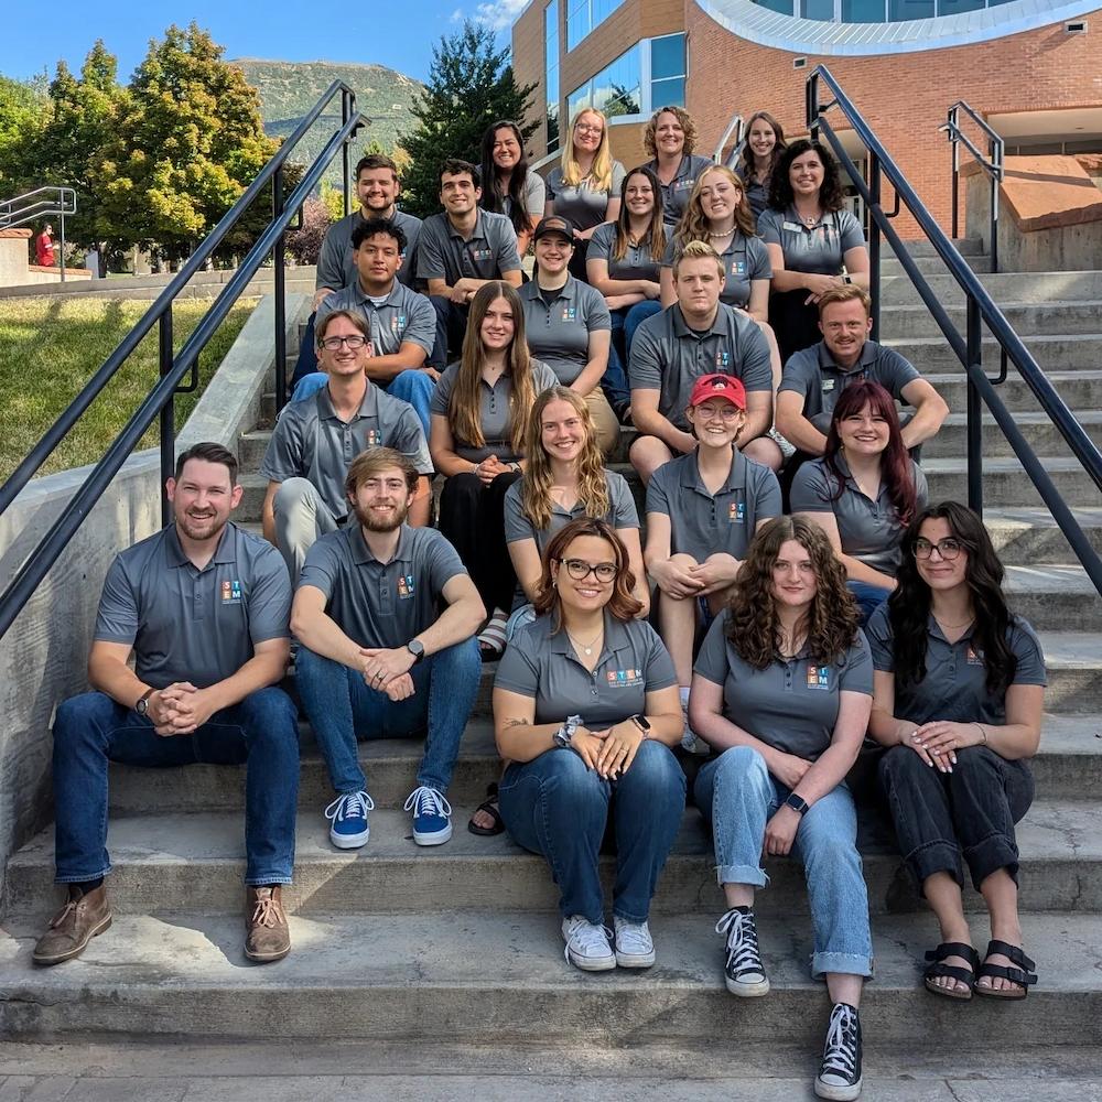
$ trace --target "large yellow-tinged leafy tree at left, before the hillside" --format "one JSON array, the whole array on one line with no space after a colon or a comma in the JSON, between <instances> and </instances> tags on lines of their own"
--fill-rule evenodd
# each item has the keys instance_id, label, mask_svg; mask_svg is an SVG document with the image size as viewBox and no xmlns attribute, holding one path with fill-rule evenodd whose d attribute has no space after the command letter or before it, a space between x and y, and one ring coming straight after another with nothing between
<instances>
[{"instance_id":1,"label":"large yellow-tinged leafy tree at left, before the hillside","mask_svg":"<svg viewBox=\"0 0 1102 1102\"><path fill-rule=\"evenodd\" d=\"M172 259L192 251L277 149L257 90L223 53L195 23L152 41L91 170L110 228Z\"/></svg>"}]
</instances>

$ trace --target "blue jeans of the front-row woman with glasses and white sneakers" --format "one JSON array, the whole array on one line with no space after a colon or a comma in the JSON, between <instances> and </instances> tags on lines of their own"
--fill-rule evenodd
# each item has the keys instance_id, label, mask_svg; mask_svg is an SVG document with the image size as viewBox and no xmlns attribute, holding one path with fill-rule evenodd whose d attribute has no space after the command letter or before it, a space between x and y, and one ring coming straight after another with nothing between
<instances>
[{"instance_id":1,"label":"blue jeans of the front-row woman with glasses and white sneakers","mask_svg":"<svg viewBox=\"0 0 1102 1102\"><path fill-rule=\"evenodd\" d=\"M603 780L568 749L514 761L498 786L509 836L542 854L564 916L604 921L597 856L608 827L616 841L613 914L645 922L658 876L678 835L685 778L668 746L647 739L619 780Z\"/></svg>"}]
</instances>

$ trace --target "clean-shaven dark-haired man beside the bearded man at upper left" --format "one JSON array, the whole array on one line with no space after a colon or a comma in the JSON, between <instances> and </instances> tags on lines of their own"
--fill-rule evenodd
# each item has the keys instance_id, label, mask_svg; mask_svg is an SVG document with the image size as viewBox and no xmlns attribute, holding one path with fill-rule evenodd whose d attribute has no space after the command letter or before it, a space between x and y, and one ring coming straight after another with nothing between
<instances>
[{"instance_id":1,"label":"clean-shaven dark-haired man beside the bearded man at upper left","mask_svg":"<svg viewBox=\"0 0 1102 1102\"><path fill-rule=\"evenodd\" d=\"M445 161L440 171L440 202L444 209L421 227L417 273L429 282L436 311L436 342L429 363L437 370L449 349L463 347L467 306L490 280L520 287L520 253L512 223L504 214L478 206L482 177L469 161Z\"/></svg>"}]
</instances>

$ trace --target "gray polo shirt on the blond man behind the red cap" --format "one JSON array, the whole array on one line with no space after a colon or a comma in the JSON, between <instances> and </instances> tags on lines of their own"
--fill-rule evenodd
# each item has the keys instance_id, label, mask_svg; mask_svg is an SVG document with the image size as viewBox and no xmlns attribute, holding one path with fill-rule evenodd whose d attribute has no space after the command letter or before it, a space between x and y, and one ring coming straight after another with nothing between
<instances>
[{"instance_id":1,"label":"gray polo shirt on the blond man behind the red cap","mask_svg":"<svg viewBox=\"0 0 1102 1102\"><path fill-rule=\"evenodd\" d=\"M720 303L710 329L689 328L673 303L635 331L629 376L633 390L658 390L658 412L683 432L693 383L720 371L742 379L747 393L773 393L769 345L757 322Z\"/></svg>"}]
</instances>

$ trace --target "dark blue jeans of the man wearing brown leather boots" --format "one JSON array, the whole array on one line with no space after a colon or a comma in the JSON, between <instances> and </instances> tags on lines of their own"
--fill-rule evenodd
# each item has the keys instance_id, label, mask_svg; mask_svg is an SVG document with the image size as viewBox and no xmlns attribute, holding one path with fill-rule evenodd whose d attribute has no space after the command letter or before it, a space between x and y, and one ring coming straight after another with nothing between
<instances>
[{"instance_id":1,"label":"dark blue jeans of the man wearing brown leather boots","mask_svg":"<svg viewBox=\"0 0 1102 1102\"><path fill-rule=\"evenodd\" d=\"M260 689L215 712L191 735L161 737L149 719L100 692L73 696L54 722L57 883L111 869L107 764L147 768L245 763L246 884L290 884L299 799L299 726L281 689Z\"/></svg>"}]
</instances>

